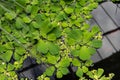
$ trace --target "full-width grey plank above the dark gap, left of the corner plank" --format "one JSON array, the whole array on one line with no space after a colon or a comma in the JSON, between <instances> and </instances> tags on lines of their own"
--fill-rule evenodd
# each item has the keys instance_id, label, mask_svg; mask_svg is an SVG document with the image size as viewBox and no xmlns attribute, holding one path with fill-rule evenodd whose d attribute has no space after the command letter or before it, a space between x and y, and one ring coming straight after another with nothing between
<instances>
[{"instance_id":1,"label":"full-width grey plank above the dark gap, left of the corner plank","mask_svg":"<svg viewBox=\"0 0 120 80\"><path fill-rule=\"evenodd\" d=\"M97 9L92 11L92 15L98 25L102 28L104 32L116 29L117 26L109 18L109 16L104 12L101 6L98 6Z\"/></svg>"}]
</instances>

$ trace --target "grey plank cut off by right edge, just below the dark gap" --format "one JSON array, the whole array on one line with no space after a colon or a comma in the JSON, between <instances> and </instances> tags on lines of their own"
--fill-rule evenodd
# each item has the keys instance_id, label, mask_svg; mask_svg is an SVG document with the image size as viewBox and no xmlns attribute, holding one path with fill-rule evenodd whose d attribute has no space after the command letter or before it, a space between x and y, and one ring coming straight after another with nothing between
<instances>
[{"instance_id":1,"label":"grey plank cut off by right edge, just below the dark gap","mask_svg":"<svg viewBox=\"0 0 120 80\"><path fill-rule=\"evenodd\" d=\"M120 31L113 32L107 35L107 37L110 39L110 41L115 46L117 51L119 51L120 50Z\"/></svg>"}]
</instances>

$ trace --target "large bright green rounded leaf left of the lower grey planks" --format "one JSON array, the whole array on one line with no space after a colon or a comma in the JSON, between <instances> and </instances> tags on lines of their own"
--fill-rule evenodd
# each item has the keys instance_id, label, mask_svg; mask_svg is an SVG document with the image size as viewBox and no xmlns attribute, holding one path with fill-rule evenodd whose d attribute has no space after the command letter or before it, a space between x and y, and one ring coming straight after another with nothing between
<instances>
[{"instance_id":1,"label":"large bright green rounded leaf left of the lower grey planks","mask_svg":"<svg viewBox=\"0 0 120 80\"><path fill-rule=\"evenodd\" d=\"M91 57L91 52L89 52L89 48L87 48L86 46L81 47L80 49L80 54L79 54L79 58L82 60L88 60Z\"/></svg>"}]
</instances>

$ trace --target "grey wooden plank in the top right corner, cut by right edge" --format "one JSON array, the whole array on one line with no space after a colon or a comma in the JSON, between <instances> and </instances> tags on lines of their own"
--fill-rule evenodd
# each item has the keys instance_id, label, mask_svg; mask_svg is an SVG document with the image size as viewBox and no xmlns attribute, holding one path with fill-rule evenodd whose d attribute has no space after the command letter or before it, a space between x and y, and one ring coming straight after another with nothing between
<instances>
[{"instance_id":1,"label":"grey wooden plank in the top right corner, cut by right edge","mask_svg":"<svg viewBox=\"0 0 120 80\"><path fill-rule=\"evenodd\" d=\"M112 18L114 23L117 26L120 26L120 8L112 2L105 2L101 4L101 6L105 10L105 12Z\"/></svg>"}]
</instances>

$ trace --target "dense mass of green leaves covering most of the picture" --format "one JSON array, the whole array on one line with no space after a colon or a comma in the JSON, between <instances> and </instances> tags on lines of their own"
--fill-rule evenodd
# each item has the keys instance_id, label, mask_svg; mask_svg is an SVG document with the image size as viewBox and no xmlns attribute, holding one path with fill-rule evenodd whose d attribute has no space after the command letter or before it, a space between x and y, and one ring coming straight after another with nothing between
<instances>
[{"instance_id":1,"label":"dense mass of green leaves covering most of the picture","mask_svg":"<svg viewBox=\"0 0 120 80\"><path fill-rule=\"evenodd\" d=\"M28 56L47 66L39 80L62 78L69 66L77 67L82 79L91 56L102 46L99 28L87 23L98 1L0 1L0 61L5 64L0 67L1 79L16 80L15 71Z\"/></svg>"}]
</instances>

